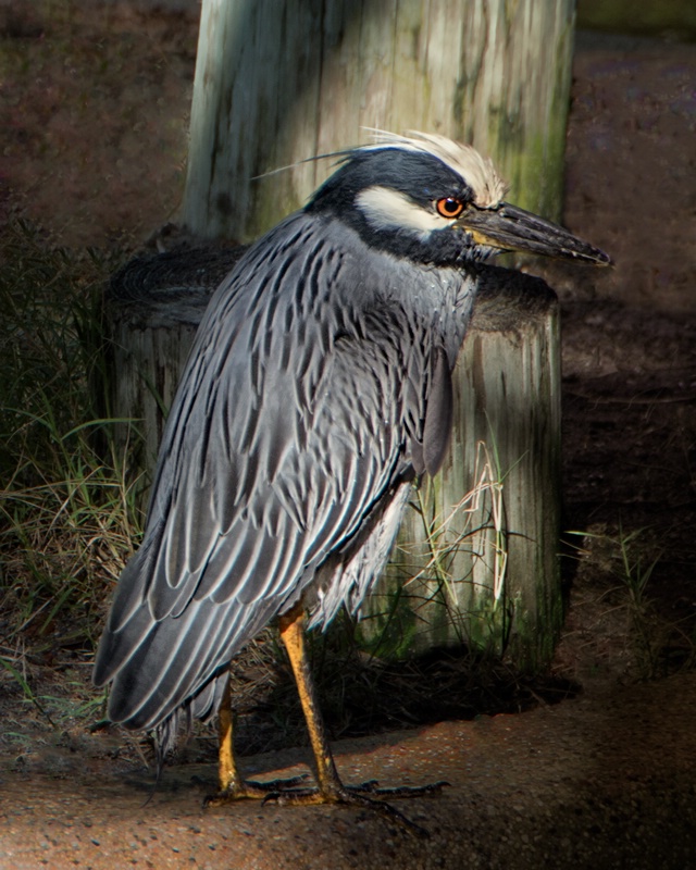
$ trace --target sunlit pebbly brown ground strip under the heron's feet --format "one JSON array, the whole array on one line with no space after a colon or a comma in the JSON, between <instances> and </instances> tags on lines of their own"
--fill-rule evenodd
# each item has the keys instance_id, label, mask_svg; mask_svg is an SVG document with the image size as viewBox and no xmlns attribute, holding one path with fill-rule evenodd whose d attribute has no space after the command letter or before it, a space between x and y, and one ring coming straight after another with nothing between
<instances>
[{"instance_id":1,"label":"sunlit pebbly brown ground strip under the heron's feet","mask_svg":"<svg viewBox=\"0 0 696 870\"><path fill-rule=\"evenodd\" d=\"M170 770L144 806L151 780L116 773L112 759L98 763L79 747L84 772L61 779L39 755L24 770L0 771L0 866L689 870L695 714L696 685L682 675L522 716L336 744L353 782L375 772L432 782L446 772L443 794L400 801L427 841L345 807L203 811L210 766ZM288 775L299 760L295 750L272 754L250 759L249 770Z\"/></svg>"}]
</instances>

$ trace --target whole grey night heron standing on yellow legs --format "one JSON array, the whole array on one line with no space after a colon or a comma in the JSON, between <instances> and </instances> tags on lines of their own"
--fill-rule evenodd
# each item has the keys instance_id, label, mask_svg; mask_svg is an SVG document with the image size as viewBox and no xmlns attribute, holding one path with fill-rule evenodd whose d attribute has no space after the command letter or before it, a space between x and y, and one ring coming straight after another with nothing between
<instances>
[{"instance_id":1,"label":"whole grey night heron standing on yellow legs","mask_svg":"<svg viewBox=\"0 0 696 870\"><path fill-rule=\"evenodd\" d=\"M219 799L266 796L235 766L226 686L235 652L279 617L318 782L283 799L380 804L398 816L375 799L381 790L338 778L304 655L306 614L325 626L341 604L358 609L413 478L440 465L474 264L499 250L608 258L504 202L500 178L472 148L384 134L341 158L208 308L95 682L112 682L111 720L154 730L162 753L182 719L219 712Z\"/></svg>"}]
</instances>

